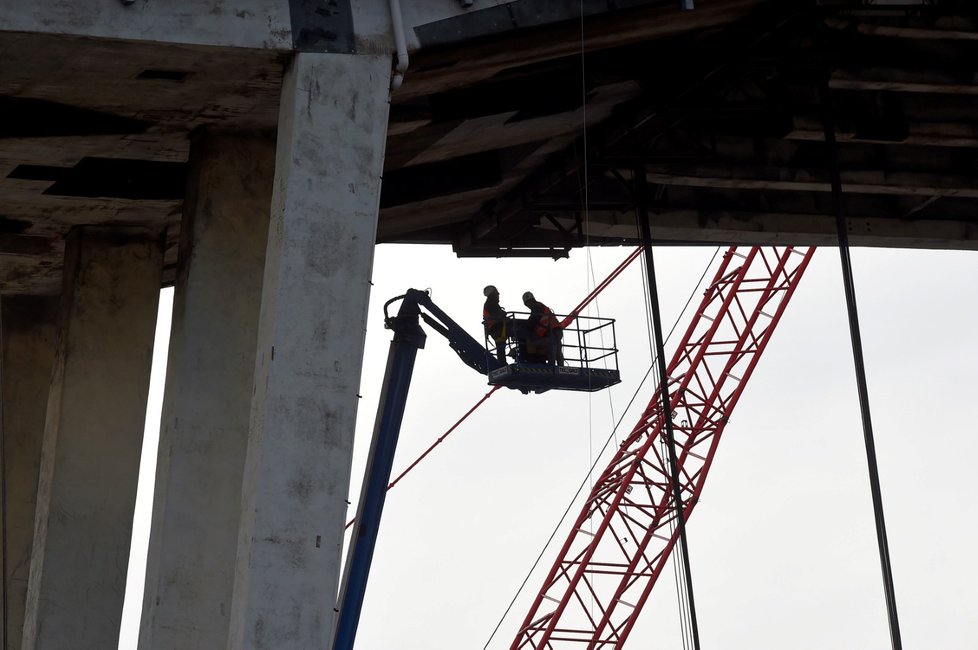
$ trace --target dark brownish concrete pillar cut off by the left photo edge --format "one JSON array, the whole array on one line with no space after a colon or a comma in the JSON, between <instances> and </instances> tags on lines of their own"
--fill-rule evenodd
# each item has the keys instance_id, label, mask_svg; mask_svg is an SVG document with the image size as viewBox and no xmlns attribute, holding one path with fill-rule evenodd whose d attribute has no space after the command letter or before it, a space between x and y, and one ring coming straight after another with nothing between
<instances>
[{"instance_id":1,"label":"dark brownish concrete pillar cut off by the left photo edge","mask_svg":"<svg viewBox=\"0 0 978 650\"><path fill-rule=\"evenodd\" d=\"M37 473L41 466L41 439L47 410L51 366L57 340L56 296L3 296L0 298L3 385L3 603L6 618L2 646L19 650L24 629L27 576L34 539L34 504Z\"/></svg>"}]
</instances>

